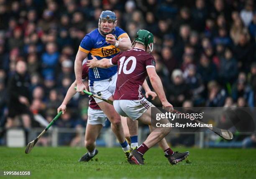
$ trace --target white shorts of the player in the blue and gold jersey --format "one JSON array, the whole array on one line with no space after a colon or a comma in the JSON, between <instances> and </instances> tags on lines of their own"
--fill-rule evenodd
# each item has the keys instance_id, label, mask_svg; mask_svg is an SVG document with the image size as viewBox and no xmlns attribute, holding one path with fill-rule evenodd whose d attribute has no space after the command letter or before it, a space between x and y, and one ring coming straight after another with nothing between
<instances>
[{"instance_id":1,"label":"white shorts of the player in the blue and gold jersey","mask_svg":"<svg viewBox=\"0 0 256 179\"><path fill-rule=\"evenodd\" d=\"M94 81L94 82L89 80L90 92L92 94L97 94L102 98L108 99L111 96L113 96L115 93L116 80L117 80L117 73L106 80ZM97 103L102 102L101 99L98 99L96 97L94 99Z\"/></svg>"}]
</instances>

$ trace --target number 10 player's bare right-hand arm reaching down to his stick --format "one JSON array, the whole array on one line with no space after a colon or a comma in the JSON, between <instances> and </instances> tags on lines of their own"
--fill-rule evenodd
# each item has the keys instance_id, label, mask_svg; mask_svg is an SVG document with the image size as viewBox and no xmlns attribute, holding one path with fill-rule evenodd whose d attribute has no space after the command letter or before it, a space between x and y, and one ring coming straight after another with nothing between
<instances>
[{"instance_id":1,"label":"number 10 player's bare right-hand arm reaching down to his stick","mask_svg":"<svg viewBox=\"0 0 256 179\"><path fill-rule=\"evenodd\" d=\"M161 79L157 75L155 68L153 68L153 67L147 68L147 73L148 73L148 77L151 82L151 85L154 88L154 90L156 91L156 94L159 96L159 99L160 99L164 109L169 112L173 112L172 104L170 104L166 99Z\"/></svg>"}]
</instances>

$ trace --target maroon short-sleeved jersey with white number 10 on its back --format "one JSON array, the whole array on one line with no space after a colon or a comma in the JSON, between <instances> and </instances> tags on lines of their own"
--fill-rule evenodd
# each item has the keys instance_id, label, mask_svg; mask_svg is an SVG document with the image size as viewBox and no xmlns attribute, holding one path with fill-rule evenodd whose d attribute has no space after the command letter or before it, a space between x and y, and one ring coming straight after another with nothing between
<instances>
[{"instance_id":1,"label":"maroon short-sleeved jersey with white number 10 on its back","mask_svg":"<svg viewBox=\"0 0 256 179\"><path fill-rule=\"evenodd\" d=\"M156 66L154 57L141 48L133 48L116 55L110 63L118 65L114 100L142 99L142 84L148 76L146 68Z\"/></svg>"}]
</instances>

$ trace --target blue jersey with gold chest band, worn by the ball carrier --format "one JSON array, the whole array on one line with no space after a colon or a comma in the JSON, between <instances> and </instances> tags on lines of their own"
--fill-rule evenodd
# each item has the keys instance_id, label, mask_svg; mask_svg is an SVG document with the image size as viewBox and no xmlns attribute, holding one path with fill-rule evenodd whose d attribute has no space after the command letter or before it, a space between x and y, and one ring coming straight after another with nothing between
<instances>
[{"instance_id":1,"label":"blue jersey with gold chest band, worn by the ball carrier","mask_svg":"<svg viewBox=\"0 0 256 179\"><path fill-rule=\"evenodd\" d=\"M120 40L122 37L128 37L127 33L119 27L115 27L115 31L112 34L115 36L116 40ZM79 50L88 53L88 60L92 59L92 55L98 60L102 58L113 58L120 52L119 48L106 42L105 36L101 35L98 29L85 35L80 43ZM89 79L90 81L106 80L115 75L116 72L117 66L108 69L97 67L90 68Z\"/></svg>"}]
</instances>

